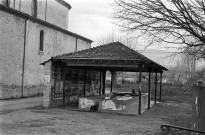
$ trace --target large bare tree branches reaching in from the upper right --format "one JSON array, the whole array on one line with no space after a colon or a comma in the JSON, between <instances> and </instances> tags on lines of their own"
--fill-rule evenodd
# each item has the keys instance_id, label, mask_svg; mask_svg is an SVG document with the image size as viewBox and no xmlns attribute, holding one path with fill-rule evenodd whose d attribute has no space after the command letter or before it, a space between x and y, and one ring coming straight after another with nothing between
<instances>
[{"instance_id":1,"label":"large bare tree branches reaching in from the upper right","mask_svg":"<svg viewBox=\"0 0 205 135\"><path fill-rule=\"evenodd\" d=\"M115 0L114 18L123 30L152 43L175 44L181 52L205 58L204 0Z\"/></svg>"}]
</instances>

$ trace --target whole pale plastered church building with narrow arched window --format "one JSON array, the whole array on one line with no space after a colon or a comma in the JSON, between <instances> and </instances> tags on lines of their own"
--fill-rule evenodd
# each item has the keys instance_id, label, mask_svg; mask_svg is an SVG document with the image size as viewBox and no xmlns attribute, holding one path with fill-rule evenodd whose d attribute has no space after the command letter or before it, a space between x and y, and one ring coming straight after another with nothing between
<instances>
[{"instance_id":1,"label":"whole pale plastered church building with narrow arched window","mask_svg":"<svg viewBox=\"0 0 205 135\"><path fill-rule=\"evenodd\" d=\"M91 47L68 31L70 9L63 0L0 0L0 99L42 94L40 63Z\"/></svg>"}]
</instances>

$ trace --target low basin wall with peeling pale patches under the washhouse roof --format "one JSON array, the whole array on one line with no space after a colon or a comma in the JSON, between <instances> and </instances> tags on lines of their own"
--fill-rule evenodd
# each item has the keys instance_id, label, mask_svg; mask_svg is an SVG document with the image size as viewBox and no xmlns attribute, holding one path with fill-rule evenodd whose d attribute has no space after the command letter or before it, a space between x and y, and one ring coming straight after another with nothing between
<instances>
[{"instance_id":1,"label":"low basin wall with peeling pale patches under the washhouse roof","mask_svg":"<svg viewBox=\"0 0 205 135\"><path fill-rule=\"evenodd\" d=\"M148 94L144 93L141 97L142 112L147 109ZM103 112L115 112L125 114L138 114L138 96L114 96L113 94L90 96L80 98L78 108L80 110L98 110Z\"/></svg>"}]
</instances>

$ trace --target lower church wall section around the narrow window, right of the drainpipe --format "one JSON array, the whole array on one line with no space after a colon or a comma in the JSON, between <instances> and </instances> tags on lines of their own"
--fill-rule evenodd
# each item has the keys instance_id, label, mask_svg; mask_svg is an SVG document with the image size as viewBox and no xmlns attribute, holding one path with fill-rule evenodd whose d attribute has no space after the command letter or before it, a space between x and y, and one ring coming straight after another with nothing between
<instances>
[{"instance_id":1,"label":"lower church wall section around the narrow window, right of the drainpipe","mask_svg":"<svg viewBox=\"0 0 205 135\"><path fill-rule=\"evenodd\" d=\"M39 51L40 31L44 31L44 51ZM79 50L90 47L85 41L79 40ZM37 23L27 22L27 40L25 53L25 88L40 87L44 82L44 66L40 65L51 56L74 52L76 38L62 32L53 30ZM39 91L37 91L39 92Z\"/></svg>"}]
</instances>

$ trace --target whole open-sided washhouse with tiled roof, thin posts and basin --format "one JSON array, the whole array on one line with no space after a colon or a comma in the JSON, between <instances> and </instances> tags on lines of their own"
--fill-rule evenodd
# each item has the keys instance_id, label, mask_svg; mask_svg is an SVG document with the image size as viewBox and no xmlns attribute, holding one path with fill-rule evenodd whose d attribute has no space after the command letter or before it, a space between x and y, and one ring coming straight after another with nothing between
<instances>
[{"instance_id":1,"label":"whole open-sided washhouse with tiled roof, thin posts and basin","mask_svg":"<svg viewBox=\"0 0 205 135\"><path fill-rule=\"evenodd\" d=\"M151 73L155 74L154 104L161 100L162 73L165 67L120 42L51 57L44 65L46 89L44 107L74 105L78 110L141 114L151 107ZM109 92L106 72L111 73ZM114 92L114 72L138 72L134 91ZM148 73L148 92L142 93L142 72ZM157 93L157 74L160 87ZM157 99L159 94L159 99Z\"/></svg>"}]
</instances>

